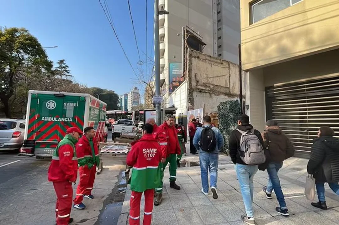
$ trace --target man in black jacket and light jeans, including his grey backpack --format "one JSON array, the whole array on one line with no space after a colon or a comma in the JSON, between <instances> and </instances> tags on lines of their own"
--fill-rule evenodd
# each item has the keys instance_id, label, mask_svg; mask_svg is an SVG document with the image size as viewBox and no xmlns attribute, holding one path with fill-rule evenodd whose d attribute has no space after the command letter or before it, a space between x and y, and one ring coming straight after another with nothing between
<instances>
[{"instance_id":1,"label":"man in black jacket and light jeans, including his grey backpack","mask_svg":"<svg viewBox=\"0 0 339 225\"><path fill-rule=\"evenodd\" d=\"M229 149L245 205L246 214L241 216L241 220L250 225L256 224L252 207L253 178L258 171L258 164L266 161L263 146L261 133L250 124L250 118L247 115L239 116L238 127L230 135Z\"/></svg>"}]
</instances>

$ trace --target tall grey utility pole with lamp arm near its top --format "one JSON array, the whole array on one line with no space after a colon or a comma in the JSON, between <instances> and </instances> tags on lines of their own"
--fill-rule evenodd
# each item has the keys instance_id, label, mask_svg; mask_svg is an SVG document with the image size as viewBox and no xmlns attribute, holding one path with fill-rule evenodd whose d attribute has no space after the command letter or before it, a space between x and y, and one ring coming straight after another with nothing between
<instances>
[{"instance_id":1,"label":"tall grey utility pole with lamp arm near its top","mask_svg":"<svg viewBox=\"0 0 339 225\"><path fill-rule=\"evenodd\" d=\"M160 46L159 46L159 14L168 15L164 9L159 11L159 0L154 0L154 64L155 64L155 95L160 96ZM161 103L155 104L156 124L160 126L161 122Z\"/></svg>"}]
</instances>

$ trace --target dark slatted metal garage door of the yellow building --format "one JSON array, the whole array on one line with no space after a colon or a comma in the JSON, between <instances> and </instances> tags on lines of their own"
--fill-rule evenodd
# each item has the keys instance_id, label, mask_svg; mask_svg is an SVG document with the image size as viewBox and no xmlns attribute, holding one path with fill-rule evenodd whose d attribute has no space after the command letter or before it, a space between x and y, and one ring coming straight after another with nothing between
<instances>
[{"instance_id":1,"label":"dark slatted metal garage door of the yellow building","mask_svg":"<svg viewBox=\"0 0 339 225\"><path fill-rule=\"evenodd\" d=\"M266 87L266 119L277 120L296 149L309 157L321 126L339 136L339 76Z\"/></svg>"}]
</instances>

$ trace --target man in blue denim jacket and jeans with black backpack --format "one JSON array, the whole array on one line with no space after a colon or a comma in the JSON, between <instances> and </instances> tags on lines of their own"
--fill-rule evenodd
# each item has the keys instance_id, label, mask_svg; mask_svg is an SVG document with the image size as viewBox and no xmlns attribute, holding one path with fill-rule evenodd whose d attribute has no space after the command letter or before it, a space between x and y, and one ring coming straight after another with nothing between
<instances>
[{"instance_id":1,"label":"man in blue denim jacket and jeans with black backpack","mask_svg":"<svg viewBox=\"0 0 339 225\"><path fill-rule=\"evenodd\" d=\"M203 130L204 130L203 133L205 133L207 129L211 129L212 133L214 133L215 135L215 140L213 140L213 142L215 142L215 147L214 149L211 149L211 151L206 151L206 149L203 149L201 147L202 146L201 134ZM208 169L210 169L211 191L213 193L213 198L217 199L219 149L224 146L224 138L218 128L212 127L210 116L205 116L204 125L202 127L197 128L197 131L194 135L193 144L196 147L196 149L199 149L201 183L202 183L201 192L204 195L208 195Z\"/></svg>"}]
</instances>

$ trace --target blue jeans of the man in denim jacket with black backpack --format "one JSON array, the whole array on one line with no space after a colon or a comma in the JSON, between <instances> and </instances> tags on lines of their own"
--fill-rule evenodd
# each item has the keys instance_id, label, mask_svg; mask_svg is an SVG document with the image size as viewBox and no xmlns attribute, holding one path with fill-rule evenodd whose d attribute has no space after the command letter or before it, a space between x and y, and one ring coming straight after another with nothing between
<instances>
[{"instance_id":1,"label":"blue jeans of the man in denim jacket with black backpack","mask_svg":"<svg viewBox=\"0 0 339 225\"><path fill-rule=\"evenodd\" d=\"M208 193L208 170L210 170L211 188L217 188L219 154L200 151L199 159L202 188L205 193Z\"/></svg>"}]
</instances>

